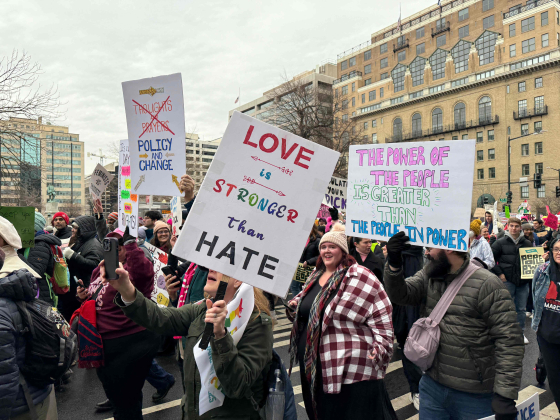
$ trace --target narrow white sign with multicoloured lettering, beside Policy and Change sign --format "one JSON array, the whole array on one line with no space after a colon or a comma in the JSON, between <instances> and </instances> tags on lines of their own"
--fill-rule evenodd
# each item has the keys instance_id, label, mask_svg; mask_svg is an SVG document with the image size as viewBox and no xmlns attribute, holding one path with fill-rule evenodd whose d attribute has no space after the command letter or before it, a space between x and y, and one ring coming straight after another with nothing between
<instances>
[{"instance_id":1,"label":"narrow white sign with multicoloured lettering, beside Policy and Change sign","mask_svg":"<svg viewBox=\"0 0 560 420\"><path fill-rule=\"evenodd\" d=\"M128 140L121 140L119 149L119 229L128 226L129 233L138 236L138 194L132 193Z\"/></svg>"}]
</instances>

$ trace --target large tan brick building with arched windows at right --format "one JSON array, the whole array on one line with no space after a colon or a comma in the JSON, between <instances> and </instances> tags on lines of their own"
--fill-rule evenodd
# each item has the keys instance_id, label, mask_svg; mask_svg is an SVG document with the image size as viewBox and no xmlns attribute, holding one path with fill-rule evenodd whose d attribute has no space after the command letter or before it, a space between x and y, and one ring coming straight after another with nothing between
<instances>
[{"instance_id":1,"label":"large tan brick building with arched windows at right","mask_svg":"<svg viewBox=\"0 0 560 420\"><path fill-rule=\"evenodd\" d=\"M339 54L341 118L371 142L476 139L473 208L542 173L538 191L512 184L516 207L542 209L560 169L560 3L456 0L434 5ZM533 135L538 133L539 135Z\"/></svg>"}]
</instances>

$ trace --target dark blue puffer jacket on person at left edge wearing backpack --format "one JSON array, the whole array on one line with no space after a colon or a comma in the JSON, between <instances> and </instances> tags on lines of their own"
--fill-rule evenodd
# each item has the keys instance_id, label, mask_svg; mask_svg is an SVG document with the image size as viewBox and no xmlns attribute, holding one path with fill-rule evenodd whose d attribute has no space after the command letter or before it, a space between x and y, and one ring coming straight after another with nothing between
<instances>
[{"instance_id":1,"label":"dark blue puffer jacket on person at left edge wearing backpack","mask_svg":"<svg viewBox=\"0 0 560 420\"><path fill-rule=\"evenodd\" d=\"M37 296L37 282L27 270L17 270L0 279L0 420L29 411L19 385L19 367L25 361L25 339L19 334L23 322L15 301ZM46 388L29 386L34 404L48 397Z\"/></svg>"}]
</instances>

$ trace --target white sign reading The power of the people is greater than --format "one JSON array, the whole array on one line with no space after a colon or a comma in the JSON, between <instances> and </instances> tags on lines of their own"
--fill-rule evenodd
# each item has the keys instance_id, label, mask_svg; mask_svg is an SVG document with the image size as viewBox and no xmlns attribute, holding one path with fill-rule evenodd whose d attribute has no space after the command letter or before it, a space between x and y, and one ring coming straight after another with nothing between
<instances>
[{"instance_id":1,"label":"white sign reading The power of the people is greater than","mask_svg":"<svg viewBox=\"0 0 560 420\"><path fill-rule=\"evenodd\" d=\"M350 146L346 234L467 251L475 141Z\"/></svg>"}]
</instances>

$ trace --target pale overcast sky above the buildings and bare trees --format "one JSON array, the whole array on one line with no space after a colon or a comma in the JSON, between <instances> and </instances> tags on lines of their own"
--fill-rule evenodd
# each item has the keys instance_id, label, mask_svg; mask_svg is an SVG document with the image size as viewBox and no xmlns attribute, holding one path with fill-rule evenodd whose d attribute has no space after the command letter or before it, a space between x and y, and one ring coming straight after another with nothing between
<instances>
[{"instance_id":1,"label":"pale overcast sky above the buildings and bare trees","mask_svg":"<svg viewBox=\"0 0 560 420\"><path fill-rule=\"evenodd\" d=\"M402 4L403 19L436 1ZM389 6L391 5L391 6ZM4 0L0 56L26 51L58 86L68 125L86 152L126 138L121 82L181 73L185 125L221 137L241 103L396 23L396 2ZM86 175L98 163L86 157Z\"/></svg>"}]
</instances>

